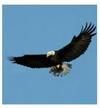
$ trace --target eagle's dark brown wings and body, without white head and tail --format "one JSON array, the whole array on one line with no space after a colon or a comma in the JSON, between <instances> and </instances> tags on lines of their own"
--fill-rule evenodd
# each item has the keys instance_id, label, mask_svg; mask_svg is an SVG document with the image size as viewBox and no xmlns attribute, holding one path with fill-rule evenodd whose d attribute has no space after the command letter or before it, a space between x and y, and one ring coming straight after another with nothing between
<instances>
[{"instance_id":1,"label":"eagle's dark brown wings and body, without white head and tail","mask_svg":"<svg viewBox=\"0 0 100 108\"><path fill-rule=\"evenodd\" d=\"M80 34L74 36L72 41L60 50L55 51L56 54L52 58L47 57L46 54L41 55L24 55L21 57L10 57L13 63L24 65L31 68L42 68L55 66L63 61L72 61L82 55L88 45L91 42L92 36L96 27L94 25L87 24L82 27Z\"/></svg>"}]
</instances>

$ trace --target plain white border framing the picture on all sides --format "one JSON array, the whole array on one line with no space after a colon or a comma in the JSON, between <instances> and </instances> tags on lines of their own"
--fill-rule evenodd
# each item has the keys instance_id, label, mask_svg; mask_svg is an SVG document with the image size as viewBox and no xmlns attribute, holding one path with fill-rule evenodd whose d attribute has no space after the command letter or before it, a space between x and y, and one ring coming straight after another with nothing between
<instances>
[{"instance_id":1,"label":"plain white border framing the picture on all sides","mask_svg":"<svg viewBox=\"0 0 100 108\"><path fill-rule=\"evenodd\" d=\"M2 52L2 5L97 5L97 46L100 46L100 0L2 0L0 3L0 52ZM97 47L97 104L2 104L2 89L0 89L0 108L100 108L100 50ZM2 61L2 53L0 53L0 60ZM2 62L0 62L0 88L2 88Z\"/></svg>"}]
</instances>

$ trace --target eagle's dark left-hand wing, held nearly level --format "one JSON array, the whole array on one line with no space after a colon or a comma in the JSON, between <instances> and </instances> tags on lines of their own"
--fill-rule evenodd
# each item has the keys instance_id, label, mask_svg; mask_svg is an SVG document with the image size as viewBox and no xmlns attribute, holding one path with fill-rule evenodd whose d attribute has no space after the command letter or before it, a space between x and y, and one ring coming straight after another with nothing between
<instances>
[{"instance_id":1,"label":"eagle's dark left-hand wing, held nearly level","mask_svg":"<svg viewBox=\"0 0 100 108\"><path fill-rule=\"evenodd\" d=\"M21 57L10 57L10 61L31 68L51 67L55 65L46 54L41 55L24 55Z\"/></svg>"}]
</instances>

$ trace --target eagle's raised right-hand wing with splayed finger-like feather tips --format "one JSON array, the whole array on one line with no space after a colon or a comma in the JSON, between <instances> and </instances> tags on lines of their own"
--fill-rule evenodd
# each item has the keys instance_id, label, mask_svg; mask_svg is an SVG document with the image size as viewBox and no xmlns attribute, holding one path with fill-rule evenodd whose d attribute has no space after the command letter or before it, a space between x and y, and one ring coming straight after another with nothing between
<instances>
[{"instance_id":1,"label":"eagle's raised right-hand wing with splayed finger-like feather tips","mask_svg":"<svg viewBox=\"0 0 100 108\"><path fill-rule=\"evenodd\" d=\"M96 34L95 29L96 27L91 23L86 23L85 27L82 26L80 34L77 37L74 36L67 46L57 51L61 61L69 62L82 55L87 50L92 36Z\"/></svg>"}]
</instances>

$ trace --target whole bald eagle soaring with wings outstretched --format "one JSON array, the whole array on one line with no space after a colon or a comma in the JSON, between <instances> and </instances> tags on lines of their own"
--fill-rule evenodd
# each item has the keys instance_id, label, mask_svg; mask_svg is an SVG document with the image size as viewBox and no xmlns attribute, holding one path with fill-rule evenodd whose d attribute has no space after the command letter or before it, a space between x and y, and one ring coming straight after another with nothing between
<instances>
[{"instance_id":1,"label":"whole bald eagle soaring with wings outstretched","mask_svg":"<svg viewBox=\"0 0 100 108\"><path fill-rule=\"evenodd\" d=\"M10 57L10 61L30 68L51 68L50 73L55 76L62 76L69 73L72 65L68 62L78 58L87 50L96 26L86 23L82 26L78 36L74 36L71 42L63 48L49 51L47 54L23 55L20 57ZM67 62L67 63L65 63Z\"/></svg>"}]
</instances>

